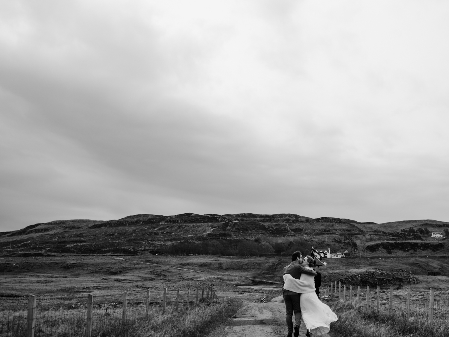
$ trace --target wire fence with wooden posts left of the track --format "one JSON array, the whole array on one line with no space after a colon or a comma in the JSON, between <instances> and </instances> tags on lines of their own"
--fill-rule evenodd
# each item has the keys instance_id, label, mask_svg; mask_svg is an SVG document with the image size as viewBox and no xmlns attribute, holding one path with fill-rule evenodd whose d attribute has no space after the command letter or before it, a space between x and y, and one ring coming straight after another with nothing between
<instances>
[{"instance_id":1,"label":"wire fence with wooden posts left of the track","mask_svg":"<svg viewBox=\"0 0 449 337\"><path fill-rule=\"evenodd\" d=\"M189 310L215 301L212 286L161 289L79 297L0 297L1 337L98 336L126 321L147 322L157 315Z\"/></svg>"}]
</instances>

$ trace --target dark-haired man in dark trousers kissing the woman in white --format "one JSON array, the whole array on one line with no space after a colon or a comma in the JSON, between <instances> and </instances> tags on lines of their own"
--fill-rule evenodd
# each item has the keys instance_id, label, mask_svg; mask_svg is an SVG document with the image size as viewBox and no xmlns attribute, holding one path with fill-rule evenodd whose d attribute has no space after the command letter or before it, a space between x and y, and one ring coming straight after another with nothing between
<instances>
[{"instance_id":1,"label":"dark-haired man in dark trousers kissing the woman in white","mask_svg":"<svg viewBox=\"0 0 449 337\"><path fill-rule=\"evenodd\" d=\"M284 274L290 274L295 279L299 279L301 274L317 275L315 270L309 270L304 268L301 263L303 262L303 255L299 250L291 254L291 264L284 268ZM286 322L287 322L287 337L292 337L293 333L293 312L295 312L295 337L299 336L299 324L301 324L301 305L299 302L299 293L292 292L290 290L284 289L284 284L282 284L282 295L284 297L285 309L286 309Z\"/></svg>"}]
</instances>

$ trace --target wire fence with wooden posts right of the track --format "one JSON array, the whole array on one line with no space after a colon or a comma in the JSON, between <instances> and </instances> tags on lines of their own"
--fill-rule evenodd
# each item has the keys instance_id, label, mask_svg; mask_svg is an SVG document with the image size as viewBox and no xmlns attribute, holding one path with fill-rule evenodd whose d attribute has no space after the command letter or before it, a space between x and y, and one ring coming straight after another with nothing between
<instances>
[{"instance_id":1,"label":"wire fence with wooden posts right of the track","mask_svg":"<svg viewBox=\"0 0 449 337\"><path fill-rule=\"evenodd\" d=\"M325 292L343 302L364 306L383 315L418 319L428 324L449 320L449 290L441 288L363 287L342 285L337 282L327 286Z\"/></svg>"}]
</instances>

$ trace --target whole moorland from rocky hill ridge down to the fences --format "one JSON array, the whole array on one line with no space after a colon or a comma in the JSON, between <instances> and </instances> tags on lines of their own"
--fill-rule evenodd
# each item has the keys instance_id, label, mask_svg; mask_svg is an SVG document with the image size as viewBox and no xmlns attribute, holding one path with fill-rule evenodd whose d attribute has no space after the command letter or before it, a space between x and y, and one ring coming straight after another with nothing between
<instances>
[{"instance_id":1,"label":"whole moorland from rocky hill ridge down to the fences","mask_svg":"<svg viewBox=\"0 0 449 337\"><path fill-rule=\"evenodd\" d=\"M258 293L268 284L278 287L274 282L290 262L286 255L261 254L312 247L347 252L326 259L323 284L449 288L449 242L431 238L432 231L447 229L449 222L436 220L376 224L251 213L38 223L0 233L1 293L107 293L202 282L223 296Z\"/></svg>"}]
</instances>

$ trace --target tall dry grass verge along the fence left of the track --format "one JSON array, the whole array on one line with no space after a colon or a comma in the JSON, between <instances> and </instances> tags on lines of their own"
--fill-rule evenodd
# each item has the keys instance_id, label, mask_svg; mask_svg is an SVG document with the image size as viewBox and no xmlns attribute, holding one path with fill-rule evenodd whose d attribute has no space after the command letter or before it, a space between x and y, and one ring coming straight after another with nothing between
<instances>
[{"instance_id":1,"label":"tall dry grass verge along the fence left of the track","mask_svg":"<svg viewBox=\"0 0 449 337\"><path fill-rule=\"evenodd\" d=\"M176 310L167 307L166 313L160 310L145 310L141 314L128 316L122 324L121 309L109 310L106 314L94 317L92 337L193 337L202 336L225 322L241 306L240 300L223 299L200 303L198 307ZM131 312L130 312L131 313ZM8 337L21 337L26 331L26 316L17 313L8 314L0 326L0 334ZM84 310L48 310L47 319L40 319L35 328L35 337L75 337L84 336L86 311Z\"/></svg>"}]
</instances>

